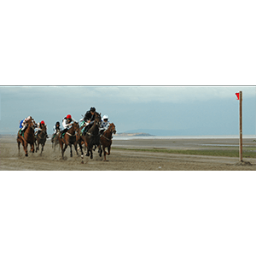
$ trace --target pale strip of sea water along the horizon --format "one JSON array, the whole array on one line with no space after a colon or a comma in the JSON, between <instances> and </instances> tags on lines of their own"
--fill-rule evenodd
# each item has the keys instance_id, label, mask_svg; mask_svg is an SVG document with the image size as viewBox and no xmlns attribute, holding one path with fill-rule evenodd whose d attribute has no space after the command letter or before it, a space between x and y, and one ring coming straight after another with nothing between
<instances>
[{"instance_id":1,"label":"pale strip of sea water along the horizon","mask_svg":"<svg viewBox=\"0 0 256 256\"><path fill-rule=\"evenodd\" d=\"M243 135L244 139L255 139L256 135ZM163 139L163 140L177 140L177 139L239 139L239 135L204 135L204 136L114 136L113 140L134 140L134 139Z\"/></svg>"}]
</instances>

